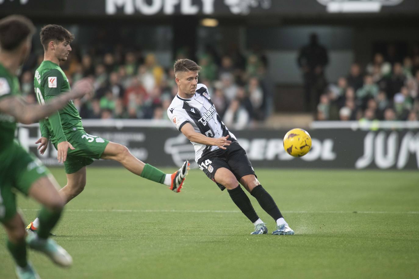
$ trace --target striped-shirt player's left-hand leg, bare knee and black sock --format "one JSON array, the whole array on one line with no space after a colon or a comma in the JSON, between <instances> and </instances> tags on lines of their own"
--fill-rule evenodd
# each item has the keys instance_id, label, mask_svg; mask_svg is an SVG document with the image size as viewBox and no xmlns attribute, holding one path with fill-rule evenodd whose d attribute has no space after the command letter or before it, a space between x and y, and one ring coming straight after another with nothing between
<instances>
[{"instance_id":1,"label":"striped-shirt player's left-hand leg, bare knee and black sock","mask_svg":"<svg viewBox=\"0 0 419 279\"><path fill-rule=\"evenodd\" d=\"M214 174L214 180L215 182L222 184L225 188L227 188L228 194L230 195L235 205L237 205L241 212L243 212L243 214L246 215L246 217L255 225L256 229L253 232L254 234L264 234L268 232L264 226L264 223L256 214L256 211L254 210L248 196L243 191L243 189L241 189L237 179L229 169L217 169Z\"/></svg>"}]
</instances>

